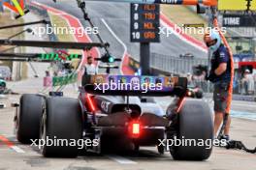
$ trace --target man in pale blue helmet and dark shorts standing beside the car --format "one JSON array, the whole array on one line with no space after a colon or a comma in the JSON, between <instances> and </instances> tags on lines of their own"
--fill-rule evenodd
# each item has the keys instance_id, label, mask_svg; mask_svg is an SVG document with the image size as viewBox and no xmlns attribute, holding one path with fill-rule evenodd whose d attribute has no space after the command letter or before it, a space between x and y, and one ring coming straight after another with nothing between
<instances>
[{"instance_id":1,"label":"man in pale blue helmet and dark shorts standing beside the car","mask_svg":"<svg viewBox=\"0 0 256 170\"><path fill-rule=\"evenodd\" d=\"M214 84L213 100L214 100L214 135L217 136L218 129L224 120L229 97L229 87L231 82L231 61L228 49L221 41L219 33L212 29L204 37L211 56L211 69L207 76L207 80ZM229 140L231 118L228 117L227 125L224 129L222 139Z\"/></svg>"}]
</instances>

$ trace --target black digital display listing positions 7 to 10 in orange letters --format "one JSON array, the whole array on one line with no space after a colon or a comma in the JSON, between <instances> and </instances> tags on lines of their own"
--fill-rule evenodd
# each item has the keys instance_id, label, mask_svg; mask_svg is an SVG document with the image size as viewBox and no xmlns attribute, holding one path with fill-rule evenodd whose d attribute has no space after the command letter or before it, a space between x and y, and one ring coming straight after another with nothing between
<instances>
[{"instance_id":1,"label":"black digital display listing positions 7 to 10 in orange letters","mask_svg":"<svg viewBox=\"0 0 256 170\"><path fill-rule=\"evenodd\" d=\"M131 4L131 42L160 42L160 6Z\"/></svg>"}]
</instances>

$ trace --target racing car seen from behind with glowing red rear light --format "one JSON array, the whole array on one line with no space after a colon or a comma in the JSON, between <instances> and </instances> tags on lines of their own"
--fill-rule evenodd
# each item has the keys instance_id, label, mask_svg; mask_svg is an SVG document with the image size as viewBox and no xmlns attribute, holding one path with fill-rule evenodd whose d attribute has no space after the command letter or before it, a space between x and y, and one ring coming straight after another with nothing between
<instances>
[{"instance_id":1,"label":"racing car seen from behind with glowing red rear light","mask_svg":"<svg viewBox=\"0 0 256 170\"><path fill-rule=\"evenodd\" d=\"M208 104L186 99L186 78L85 76L78 99L22 95L16 117L17 140L29 144L36 139L89 139L97 141L97 145L84 145L84 150L98 154L121 142L121 148L127 145L134 151L141 146L157 146L160 154L170 151L174 159L204 160L210 156L212 147L167 145L171 139L213 139ZM175 99L170 99L165 113L155 97ZM40 151L43 156L61 157L76 157L80 153L77 145L44 145Z\"/></svg>"}]
</instances>

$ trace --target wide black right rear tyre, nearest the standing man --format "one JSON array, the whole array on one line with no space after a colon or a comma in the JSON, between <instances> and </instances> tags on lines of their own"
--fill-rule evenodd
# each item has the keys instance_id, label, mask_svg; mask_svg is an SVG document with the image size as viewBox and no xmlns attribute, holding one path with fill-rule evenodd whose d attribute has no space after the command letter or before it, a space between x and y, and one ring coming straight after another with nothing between
<instances>
[{"instance_id":1,"label":"wide black right rear tyre, nearest the standing man","mask_svg":"<svg viewBox=\"0 0 256 170\"><path fill-rule=\"evenodd\" d=\"M178 113L176 134L168 138L191 140L192 144L170 147L174 159L204 160L212 151L213 124L208 104L199 100L186 100Z\"/></svg>"}]
</instances>

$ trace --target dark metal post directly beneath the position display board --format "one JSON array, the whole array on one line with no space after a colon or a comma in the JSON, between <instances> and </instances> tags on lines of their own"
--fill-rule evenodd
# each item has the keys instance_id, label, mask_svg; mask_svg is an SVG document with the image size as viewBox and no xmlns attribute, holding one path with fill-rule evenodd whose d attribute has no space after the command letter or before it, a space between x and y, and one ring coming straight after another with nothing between
<instances>
[{"instance_id":1,"label":"dark metal post directly beneath the position display board","mask_svg":"<svg viewBox=\"0 0 256 170\"><path fill-rule=\"evenodd\" d=\"M150 45L149 42L141 42L141 68L143 75L150 74Z\"/></svg>"}]
</instances>

